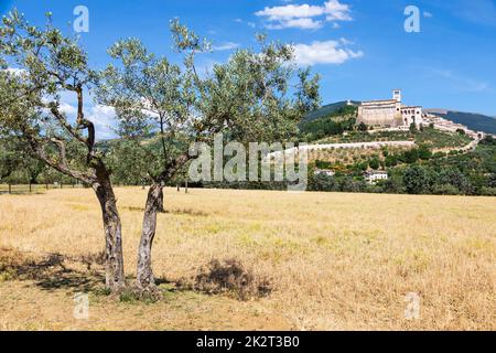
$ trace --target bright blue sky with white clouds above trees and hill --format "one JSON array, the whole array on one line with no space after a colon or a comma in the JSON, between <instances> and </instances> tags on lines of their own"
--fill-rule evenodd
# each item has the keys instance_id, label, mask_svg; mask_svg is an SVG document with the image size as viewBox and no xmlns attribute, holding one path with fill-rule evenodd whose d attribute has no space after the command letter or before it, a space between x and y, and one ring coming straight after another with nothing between
<instances>
[{"instance_id":1,"label":"bright blue sky with white clouds above trees and hill","mask_svg":"<svg viewBox=\"0 0 496 353\"><path fill-rule=\"evenodd\" d=\"M108 62L116 40L137 36L152 51L171 51L169 20L180 18L209 38L217 51L202 54L206 69L254 35L296 45L301 65L322 76L323 103L389 98L402 88L406 104L496 116L496 0L0 0L29 20L71 31L76 6L89 10L83 44L93 64ZM403 11L420 9L420 33L407 33Z\"/></svg>"}]
</instances>

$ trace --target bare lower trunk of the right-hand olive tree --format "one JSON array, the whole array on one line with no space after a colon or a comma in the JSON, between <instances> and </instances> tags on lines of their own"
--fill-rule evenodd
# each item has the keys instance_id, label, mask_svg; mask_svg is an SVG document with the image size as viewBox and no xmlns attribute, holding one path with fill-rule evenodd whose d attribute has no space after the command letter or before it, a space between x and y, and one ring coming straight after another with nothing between
<instances>
[{"instance_id":1,"label":"bare lower trunk of the right-hand olive tree","mask_svg":"<svg viewBox=\"0 0 496 353\"><path fill-rule=\"evenodd\" d=\"M155 279L151 267L151 248L157 229L157 213L163 207L163 186L153 183L144 207L143 229L138 249L137 285L142 290L153 290Z\"/></svg>"}]
</instances>

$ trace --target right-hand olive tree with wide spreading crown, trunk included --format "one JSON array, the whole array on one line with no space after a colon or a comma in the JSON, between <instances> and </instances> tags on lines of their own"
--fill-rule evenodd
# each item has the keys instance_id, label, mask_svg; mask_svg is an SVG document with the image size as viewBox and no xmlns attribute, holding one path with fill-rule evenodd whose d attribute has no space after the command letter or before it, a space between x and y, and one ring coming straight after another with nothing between
<instances>
[{"instance_id":1,"label":"right-hand olive tree with wide spreading crown, trunk included","mask_svg":"<svg viewBox=\"0 0 496 353\"><path fill-rule=\"evenodd\" d=\"M267 43L239 50L227 63L198 75L195 58L209 43L177 20L171 21L181 64L157 56L137 39L109 49L115 60L100 73L99 99L112 106L126 136L147 136L148 174L152 181L138 250L137 282L154 289L151 249L163 188L191 160L192 142L211 142L216 132L238 141L281 141L317 107L319 77L298 71L293 47Z\"/></svg>"}]
</instances>

